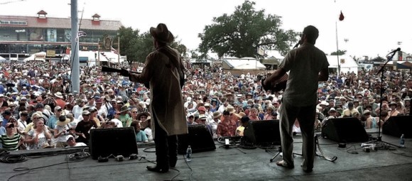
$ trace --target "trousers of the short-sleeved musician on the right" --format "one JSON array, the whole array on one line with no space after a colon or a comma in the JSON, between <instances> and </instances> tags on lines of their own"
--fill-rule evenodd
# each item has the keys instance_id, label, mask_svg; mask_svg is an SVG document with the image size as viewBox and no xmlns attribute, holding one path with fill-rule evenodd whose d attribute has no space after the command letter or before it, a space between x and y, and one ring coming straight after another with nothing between
<instances>
[{"instance_id":1,"label":"trousers of the short-sleeved musician on the right","mask_svg":"<svg viewBox=\"0 0 412 181\"><path fill-rule=\"evenodd\" d=\"M288 165L293 163L293 133L292 128L295 120L298 119L300 131L303 137L303 169L310 170L313 168L315 159L315 114L316 105L313 106L293 106L283 102L280 108L280 131L283 161Z\"/></svg>"}]
</instances>

